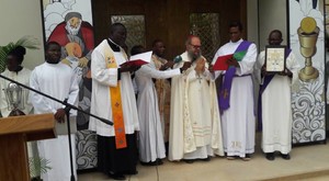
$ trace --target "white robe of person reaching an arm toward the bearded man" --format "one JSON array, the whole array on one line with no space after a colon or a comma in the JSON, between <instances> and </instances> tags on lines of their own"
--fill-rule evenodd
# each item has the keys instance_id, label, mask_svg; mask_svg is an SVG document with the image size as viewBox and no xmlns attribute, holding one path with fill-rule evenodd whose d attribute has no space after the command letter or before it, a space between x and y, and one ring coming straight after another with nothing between
<instances>
[{"instance_id":1,"label":"white robe of person reaching an arm toward the bearded man","mask_svg":"<svg viewBox=\"0 0 329 181\"><path fill-rule=\"evenodd\" d=\"M136 71L140 161L156 161L157 158L166 157L158 97L152 78L168 79L180 73L179 68L164 71L157 70L154 61L141 66Z\"/></svg>"}]
</instances>

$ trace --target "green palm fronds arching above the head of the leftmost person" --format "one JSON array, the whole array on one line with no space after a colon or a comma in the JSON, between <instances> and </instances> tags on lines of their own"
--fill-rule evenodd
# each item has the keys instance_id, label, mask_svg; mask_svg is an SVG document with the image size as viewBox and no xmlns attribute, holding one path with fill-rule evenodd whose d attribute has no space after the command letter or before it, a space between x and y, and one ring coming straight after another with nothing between
<instances>
[{"instance_id":1,"label":"green palm fronds arching above the head of the leftmost person","mask_svg":"<svg viewBox=\"0 0 329 181\"><path fill-rule=\"evenodd\" d=\"M0 46L0 72L5 69L8 53L18 46L23 46L29 49L39 49L39 41L31 35L25 35L16 43L10 42L5 46Z\"/></svg>"}]
</instances>

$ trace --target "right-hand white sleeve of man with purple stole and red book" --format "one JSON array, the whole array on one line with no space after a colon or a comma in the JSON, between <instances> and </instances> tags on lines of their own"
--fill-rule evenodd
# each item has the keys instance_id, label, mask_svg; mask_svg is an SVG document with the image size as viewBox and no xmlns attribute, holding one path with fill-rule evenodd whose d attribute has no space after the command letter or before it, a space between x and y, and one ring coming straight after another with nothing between
<instances>
[{"instance_id":1,"label":"right-hand white sleeve of man with purple stole and red book","mask_svg":"<svg viewBox=\"0 0 329 181\"><path fill-rule=\"evenodd\" d=\"M237 68L236 75L243 76L243 75L252 73L256 59L257 59L257 47L254 44L251 44L242 60L238 61L240 68Z\"/></svg>"}]
</instances>

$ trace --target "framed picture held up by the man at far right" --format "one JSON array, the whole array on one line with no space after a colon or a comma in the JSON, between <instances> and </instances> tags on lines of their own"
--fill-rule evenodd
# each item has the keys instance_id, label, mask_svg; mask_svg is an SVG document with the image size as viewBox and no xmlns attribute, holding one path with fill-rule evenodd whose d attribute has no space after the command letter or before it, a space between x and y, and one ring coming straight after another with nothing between
<instances>
[{"instance_id":1,"label":"framed picture held up by the man at far right","mask_svg":"<svg viewBox=\"0 0 329 181\"><path fill-rule=\"evenodd\" d=\"M265 47L265 67L269 72L280 72L285 68L286 46Z\"/></svg>"}]
</instances>

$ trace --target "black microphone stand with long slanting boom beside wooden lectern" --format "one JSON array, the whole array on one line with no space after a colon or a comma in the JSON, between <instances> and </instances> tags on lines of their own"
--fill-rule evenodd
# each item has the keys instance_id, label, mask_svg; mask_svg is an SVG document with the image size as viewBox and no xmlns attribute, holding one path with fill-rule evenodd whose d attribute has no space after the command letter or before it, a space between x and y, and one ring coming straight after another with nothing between
<instances>
[{"instance_id":1,"label":"black microphone stand with long slanting boom beside wooden lectern","mask_svg":"<svg viewBox=\"0 0 329 181\"><path fill-rule=\"evenodd\" d=\"M5 76L2 76L1 73L0 73L0 78L2 78L2 79L5 79L5 80L8 80L8 81L10 81L10 82L14 82L14 83L16 83L16 84L19 84L19 86L21 86L21 87L23 87L23 88L25 88L25 89L27 89L27 90L30 90L30 91L33 91L33 92L36 92L36 93L38 93L38 94L41 94L41 95L43 95L43 97L46 97L46 98L48 98L48 99L50 99L50 100L53 100L53 101L56 101L56 102L58 102L58 103L61 103L63 105L65 105L66 108L64 109L65 110L65 113L66 113L66 117L67 117L67 129L68 129L68 140L69 140L69 154L70 154L70 169L71 169L71 181L75 181L76 179L75 179L75 174L73 174L73 160L72 160L72 149L71 149L71 129L70 129L70 120L69 120L69 112L70 112L70 110L71 109L73 109L73 110L76 110L76 111L78 111L78 112L81 112L81 113L84 113L84 114L87 114L87 115L90 115L90 116L92 116L92 117L95 117L95 118L98 118L99 121L101 121L101 122L103 122L103 123L105 123L105 124L107 124L107 125L113 125L113 122L111 122L111 121L109 121L109 120L105 120L105 118L102 118L102 117L99 117L99 116L97 116L97 115L94 115L94 114L90 114L90 113L88 113L87 111L83 111L83 110L81 110L81 109L79 109L79 108L77 108L77 106L75 106L75 105L72 105L72 104L70 104L70 103L68 103L67 102L67 99L65 99L64 101L60 101L60 100L58 100L58 99L56 99L56 98L53 98L53 97L50 97L50 95L48 95L48 94L45 94L45 93L43 93L43 92L41 92L41 91L38 91L38 90L35 90L35 89L33 89L33 88L31 88L31 87L27 87L27 86L25 86L25 84L23 84L23 83L20 83L20 82L18 82L18 81L15 81L15 80L12 80L12 79L10 79L10 78L8 78L8 77L5 77Z\"/></svg>"}]
</instances>

